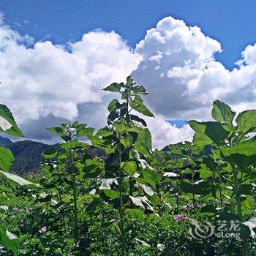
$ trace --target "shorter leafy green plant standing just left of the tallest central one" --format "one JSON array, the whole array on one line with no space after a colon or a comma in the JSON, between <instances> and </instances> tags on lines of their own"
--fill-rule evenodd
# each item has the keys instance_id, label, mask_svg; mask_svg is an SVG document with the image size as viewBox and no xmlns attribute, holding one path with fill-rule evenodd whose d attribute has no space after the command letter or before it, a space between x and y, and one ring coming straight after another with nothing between
<instances>
[{"instance_id":1,"label":"shorter leafy green plant standing just left of the tallest central one","mask_svg":"<svg viewBox=\"0 0 256 256\"><path fill-rule=\"evenodd\" d=\"M88 144L78 141L81 137L91 137L94 129L75 121L73 124L61 124L59 127L48 128L48 131L59 135L64 143L47 148L43 152L45 157L45 187L55 188L56 198L62 207L63 192L72 196L72 234L74 241L78 241L78 195L83 178L86 178L87 164L90 157L87 154ZM54 193L53 193L54 194ZM54 195L53 195L54 197Z\"/></svg>"}]
</instances>

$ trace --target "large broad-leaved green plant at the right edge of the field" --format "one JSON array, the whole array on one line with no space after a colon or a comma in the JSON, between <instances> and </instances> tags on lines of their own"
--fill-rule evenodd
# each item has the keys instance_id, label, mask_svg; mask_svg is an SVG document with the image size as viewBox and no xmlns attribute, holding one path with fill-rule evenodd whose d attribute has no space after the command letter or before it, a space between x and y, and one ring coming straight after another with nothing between
<instances>
[{"instance_id":1,"label":"large broad-leaved green plant at the right edge of the field","mask_svg":"<svg viewBox=\"0 0 256 256\"><path fill-rule=\"evenodd\" d=\"M256 110L246 110L236 113L224 102L214 101L211 112L215 121L197 122L189 121L194 129L193 143L203 147L211 145L214 155L219 155L222 165L217 168L221 175L219 182L229 184L231 193L228 201L236 205L236 216L241 224L241 238L244 242L246 255L252 255L249 248L248 228L255 227L254 211L252 211L252 183L255 182L256 165L256 137L250 133L256 132ZM204 165L206 170L212 171L210 162ZM217 212L217 210L214 210ZM225 217L229 212L224 210L218 213ZM248 233L246 233L247 230Z\"/></svg>"}]
</instances>

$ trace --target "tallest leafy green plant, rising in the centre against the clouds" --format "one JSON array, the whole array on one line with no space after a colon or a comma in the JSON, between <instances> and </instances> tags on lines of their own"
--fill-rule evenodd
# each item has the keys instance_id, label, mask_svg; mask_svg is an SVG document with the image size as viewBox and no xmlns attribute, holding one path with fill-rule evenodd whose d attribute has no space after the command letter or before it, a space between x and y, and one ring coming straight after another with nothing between
<instances>
[{"instance_id":1,"label":"tallest leafy green plant, rising in the centre against the clouds","mask_svg":"<svg viewBox=\"0 0 256 256\"><path fill-rule=\"evenodd\" d=\"M159 197L152 188L162 177L148 165L151 133L146 128L146 121L133 113L137 111L144 116L154 116L141 97L148 93L143 86L135 86L130 76L126 83L112 83L104 90L118 93L121 101L113 99L110 102L108 127L99 129L91 142L110 154L105 161L106 175L99 189L118 209L121 255L125 255L124 220L127 216L142 219L143 210L153 211L151 201L159 202Z\"/></svg>"}]
</instances>

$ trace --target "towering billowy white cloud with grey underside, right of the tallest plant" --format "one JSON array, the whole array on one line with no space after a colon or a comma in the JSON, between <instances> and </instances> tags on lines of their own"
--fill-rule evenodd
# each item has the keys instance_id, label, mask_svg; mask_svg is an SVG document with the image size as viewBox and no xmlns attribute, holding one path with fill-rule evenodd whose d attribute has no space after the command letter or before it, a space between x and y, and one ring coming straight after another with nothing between
<instances>
[{"instance_id":1,"label":"towering billowy white cloud with grey underside, right of the tallest plant","mask_svg":"<svg viewBox=\"0 0 256 256\"><path fill-rule=\"evenodd\" d=\"M219 42L197 26L171 17L149 29L136 47L143 56L134 75L154 97L148 104L165 118L211 118L213 99L222 99L236 110L255 108L256 46L249 45L238 68L227 70L215 61Z\"/></svg>"}]
</instances>

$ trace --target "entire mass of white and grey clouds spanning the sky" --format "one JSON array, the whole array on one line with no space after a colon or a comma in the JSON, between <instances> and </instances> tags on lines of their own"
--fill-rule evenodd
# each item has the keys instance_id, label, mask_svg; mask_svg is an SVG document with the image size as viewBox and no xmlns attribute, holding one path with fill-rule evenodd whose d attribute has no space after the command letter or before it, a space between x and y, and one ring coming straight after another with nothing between
<instances>
[{"instance_id":1,"label":"entire mass of white and grey clouds spanning the sky","mask_svg":"<svg viewBox=\"0 0 256 256\"><path fill-rule=\"evenodd\" d=\"M0 42L0 102L10 106L29 138L51 141L44 127L74 118L102 127L113 97L102 88L131 72L150 93L146 103L156 118L146 121L157 148L192 138L188 125L178 129L167 118L211 118L213 99L236 111L256 106L256 46L227 70L214 59L219 42L183 20L160 20L134 50L115 32L100 30L66 45L34 43L3 20Z\"/></svg>"}]
</instances>

